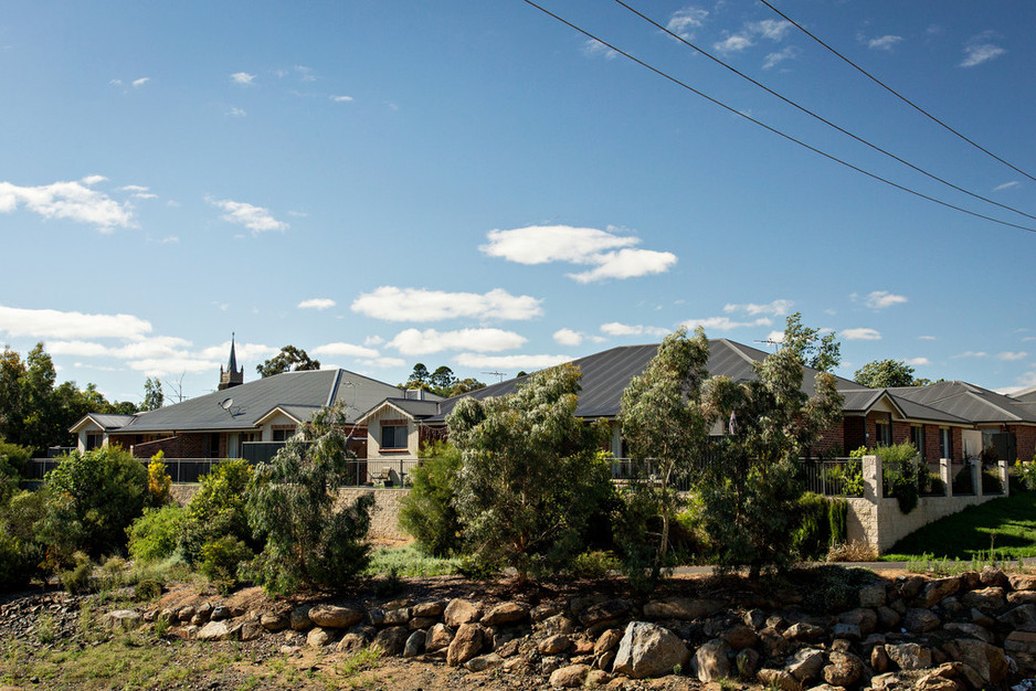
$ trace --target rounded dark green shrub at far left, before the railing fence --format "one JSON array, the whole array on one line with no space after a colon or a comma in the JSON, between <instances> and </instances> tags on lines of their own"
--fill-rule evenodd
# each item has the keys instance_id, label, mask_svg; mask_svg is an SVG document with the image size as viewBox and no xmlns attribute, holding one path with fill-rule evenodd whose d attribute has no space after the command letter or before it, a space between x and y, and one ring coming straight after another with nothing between
<instances>
[{"instance_id":1,"label":"rounded dark green shrub at far left, before the railing fence","mask_svg":"<svg viewBox=\"0 0 1036 691\"><path fill-rule=\"evenodd\" d=\"M66 563L77 550L112 554L124 550L126 529L147 503L147 470L117 447L73 451L47 474L42 491L40 534L54 563Z\"/></svg>"}]
</instances>

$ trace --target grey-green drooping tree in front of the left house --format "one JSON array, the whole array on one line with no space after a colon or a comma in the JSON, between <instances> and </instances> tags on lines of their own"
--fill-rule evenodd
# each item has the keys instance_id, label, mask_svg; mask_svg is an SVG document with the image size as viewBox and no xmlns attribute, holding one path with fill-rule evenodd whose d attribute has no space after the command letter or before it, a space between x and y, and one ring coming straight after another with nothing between
<instances>
[{"instance_id":1,"label":"grey-green drooping tree in front of the left house","mask_svg":"<svg viewBox=\"0 0 1036 691\"><path fill-rule=\"evenodd\" d=\"M266 539L253 571L268 592L340 587L366 567L373 495L336 510L337 489L351 477L351 428L340 403L325 407L256 467L246 508L252 530Z\"/></svg>"}]
</instances>

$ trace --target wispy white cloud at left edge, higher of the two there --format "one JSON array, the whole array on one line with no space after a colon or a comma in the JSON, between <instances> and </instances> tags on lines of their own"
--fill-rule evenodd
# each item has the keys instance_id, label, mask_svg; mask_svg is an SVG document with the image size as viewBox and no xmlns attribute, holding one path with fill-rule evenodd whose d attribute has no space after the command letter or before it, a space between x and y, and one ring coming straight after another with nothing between
<instances>
[{"instance_id":1,"label":"wispy white cloud at left edge, higher of the two there","mask_svg":"<svg viewBox=\"0 0 1036 691\"><path fill-rule=\"evenodd\" d=\"M53 182L38 187L19 187L0 182L0 213L12 213L20 204L44 219L68 219L97 226L102 233L115 227L133 227L133 206L119 204L91 185L107 180L88 176L75 182Z\"/></svg>"}]
</instances>

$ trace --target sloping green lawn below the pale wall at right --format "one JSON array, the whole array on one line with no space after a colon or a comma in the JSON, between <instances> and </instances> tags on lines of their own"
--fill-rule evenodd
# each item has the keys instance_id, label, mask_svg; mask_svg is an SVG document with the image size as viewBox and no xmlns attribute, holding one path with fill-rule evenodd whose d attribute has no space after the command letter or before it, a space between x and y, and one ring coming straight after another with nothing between
<instances>
[{"instance_id":1,"label":"sloping green lawn below the pale wall at right","mask_svg":"<svg viewBox=\"0 0 1036 691\"><path fill-rule=\"evenodd\" d=\"M1036 556L1036 492L994 499L929 523L897 542L881 559L970 561L991 551L997 559Z\"/></svg>"}]
</instances>

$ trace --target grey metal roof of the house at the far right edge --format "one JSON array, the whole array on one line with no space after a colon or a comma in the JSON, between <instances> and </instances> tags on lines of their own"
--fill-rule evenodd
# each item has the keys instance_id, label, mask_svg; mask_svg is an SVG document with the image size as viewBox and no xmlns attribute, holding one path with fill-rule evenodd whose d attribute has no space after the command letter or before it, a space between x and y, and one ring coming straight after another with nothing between
<instances>
[{"instance_id":1,"label":"grey metal roof of the house at the far right edge","mask_svg":"<svg viewBox=\"0 0 1036 691\"><path fill-rule=\"evenodd\" d=\"M928 386L889 389L897 397L956 415L976 424L1034 423L1036 412L1004 394L968 382L939 382Z\"/></svg>"}]
</instances>

